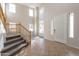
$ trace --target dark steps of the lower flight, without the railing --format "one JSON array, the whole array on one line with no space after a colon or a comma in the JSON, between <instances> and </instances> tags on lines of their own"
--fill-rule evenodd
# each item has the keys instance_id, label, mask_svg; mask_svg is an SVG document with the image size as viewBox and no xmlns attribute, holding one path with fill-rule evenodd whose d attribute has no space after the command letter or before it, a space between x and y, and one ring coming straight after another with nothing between
<instances>
[{"instance_id":1,"label":"dark steps of the lower flight, without the railing","mask_svg":"<svg viewBox=\"0 0 79 59\"><path fill-rule=\"evenodd\" d=\"M20 35L11 35L6 38L4 48L1 51L2 56L16 55L22 48L28 46L28 42L24 40Z\"/></svg>"}]
</instances>

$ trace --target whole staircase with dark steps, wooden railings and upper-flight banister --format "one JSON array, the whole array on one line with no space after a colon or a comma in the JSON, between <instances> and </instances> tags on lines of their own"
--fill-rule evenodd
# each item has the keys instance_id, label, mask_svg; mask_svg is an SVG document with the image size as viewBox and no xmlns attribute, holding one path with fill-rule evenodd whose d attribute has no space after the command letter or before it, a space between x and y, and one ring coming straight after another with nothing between
<instances>
[{"instance_id":1,"label":"whole staircase with dark steps, wooden railings and upper-flight banister","mask_svg":"<svg viewBox=\"0 0 79 59\"><path fill-rule=\"evenodd\" d=\"M0 4L0 21L2 22L2 25L3 25L0 27L0 32L1 32L1 29L2 31L5 30L4 32L0 33L0 36L1 36L0 37L0 40L1 40L0 55L13 56L13 55L16 55L22 48L28 46L28 42L31 43L31 31L25 28L21 23L10 24L10 22L7 20L4 14L5 13L3 13L3 9ZM12 28L14 27L13 25L14 26L16 25L15 28ZM9 33L9 35L7 32ZM19 34L16 34L15 32ZM8 36L6 36L6 34ZM26 40L24 40L23 38L27 39L28 42L26 42Z\"/></svg>"}]
</instances>

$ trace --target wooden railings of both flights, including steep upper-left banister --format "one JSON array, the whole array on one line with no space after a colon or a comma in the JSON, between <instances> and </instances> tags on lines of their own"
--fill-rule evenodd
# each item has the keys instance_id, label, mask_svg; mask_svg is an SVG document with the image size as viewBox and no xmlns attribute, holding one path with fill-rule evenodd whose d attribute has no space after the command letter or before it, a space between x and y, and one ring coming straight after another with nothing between
<instances>
[{"instance_id":1,"label":"wooden railings of both flights, including steep upper-left banister","mask_svg":"<svg viewBox=\"0 0 79 59\"><path fill-rule=\"evenodd\" d=\"M7 29L9 29L9 25L14 25L14 24L9 24L6 23L6 17L4 16L1 4L0 4L0 18L1 21L4 25L4 28L7 32ZM12 30L16 30L15 32L19 33L26 41L31 42L31 32L27 30L22 24L16 24L16 28L12 28Z\"/></svg>"}]
</instances>

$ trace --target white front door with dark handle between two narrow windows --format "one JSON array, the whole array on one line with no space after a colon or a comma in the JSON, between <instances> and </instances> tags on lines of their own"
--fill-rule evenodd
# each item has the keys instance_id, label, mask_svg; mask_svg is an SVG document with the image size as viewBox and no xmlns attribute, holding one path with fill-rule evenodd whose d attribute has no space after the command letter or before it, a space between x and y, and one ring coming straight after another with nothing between
<instances>
[{"instance_id":1,"label":"white front door with dark handle between two narrow windows","mask_svg":"<svg viewBox=\"0 0 79 59\"><path fill-rule=\"evenodd\" d=\"M66 42L67 39L67 14L54 17L54 38L58 42Z\"/></svg>"}]
</instances>

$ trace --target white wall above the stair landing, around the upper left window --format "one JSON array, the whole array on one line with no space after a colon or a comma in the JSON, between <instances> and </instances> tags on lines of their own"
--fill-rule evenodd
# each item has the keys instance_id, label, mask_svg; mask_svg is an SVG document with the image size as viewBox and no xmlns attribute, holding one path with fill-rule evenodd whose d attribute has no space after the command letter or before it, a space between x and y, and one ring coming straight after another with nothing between
<instances>
[{"instance_id":1,"label":"white wall above the stair landing, around the upper left window","mask_svg":"<svg viewBox=\"0 0 79 59\"><path fill-rule=\"evenodd\" d=\"M16 6L16 13L10 13L9 12L9 4L6 4L6 15L7 15L7 20L9 22L14 22L14 23L22 23L27 28L27 24L30 24L33 22L33 18L29 17L29 8L25 5L21 4L15 4Z\"/></svg>"}]
</instances>

